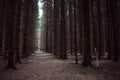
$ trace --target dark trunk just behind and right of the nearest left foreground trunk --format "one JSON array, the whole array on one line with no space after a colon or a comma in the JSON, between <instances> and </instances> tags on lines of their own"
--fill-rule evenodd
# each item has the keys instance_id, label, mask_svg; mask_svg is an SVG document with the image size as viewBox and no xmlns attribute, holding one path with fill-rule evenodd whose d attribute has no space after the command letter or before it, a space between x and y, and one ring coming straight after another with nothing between
<instances>
[{"instance_id":1,"label":"dark trunk just behind and right of the nearest left foreground trunk","mask_svg":"<svg viewBox=\"0 0 120 80\"><path fill-rule=\"evenodd\" d=\"M15 38L15 50L16 50L16 62L21 63L21 53L20 53L20 34L21 34L21 9L22 1L17 1L17 15L16 15L16 38Z\"/></svg>"}]
</instances>

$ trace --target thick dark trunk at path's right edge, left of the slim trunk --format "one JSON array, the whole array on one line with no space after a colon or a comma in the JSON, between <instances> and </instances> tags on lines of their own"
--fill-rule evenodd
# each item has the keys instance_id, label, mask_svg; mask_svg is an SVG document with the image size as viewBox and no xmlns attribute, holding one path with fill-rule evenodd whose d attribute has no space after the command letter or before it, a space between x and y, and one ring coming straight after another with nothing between
<instances>
[{"instance_id":1,"label":"thick dark trunk at path's right edge, left of the slim trunk","mask_svg":"<svg viewBox=\"0 0 120 80\"><path fill-rule=\"evenodd\" d=\"M66 42L66 12L65 0L61 0L61 54L63 59L67 59L67 42Z\"/></svg>"}]
</instances>

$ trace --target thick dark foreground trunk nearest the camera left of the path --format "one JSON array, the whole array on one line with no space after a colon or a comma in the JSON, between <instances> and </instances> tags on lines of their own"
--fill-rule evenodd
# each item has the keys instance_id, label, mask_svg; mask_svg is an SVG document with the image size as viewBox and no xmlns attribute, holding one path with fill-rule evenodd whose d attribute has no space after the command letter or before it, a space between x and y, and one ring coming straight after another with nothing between
<instances>
[{"instance_id":1,"label":"thick dark foreground trunk nearest the camera left of the path","mask_svg":"<svg viewBox=\"0 0 120 80\"><path fill-rule=\"evenodd\" d=\"M7 26L9 29L9 53L8 53L8 65L6 69L16 69L15 66L15 52L14 52L14 29L15 29L15 10L16 10L16 0L8 1L9 11L8 11L8 21Z\"/></svg>"}]
</instances>

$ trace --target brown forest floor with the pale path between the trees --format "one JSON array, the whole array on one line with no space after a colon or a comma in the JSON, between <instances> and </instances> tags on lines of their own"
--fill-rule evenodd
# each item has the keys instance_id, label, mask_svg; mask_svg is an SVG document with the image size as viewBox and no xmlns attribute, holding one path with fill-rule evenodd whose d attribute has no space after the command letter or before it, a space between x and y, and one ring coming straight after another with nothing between
<instances>
[{"instance_id":1,"label":"brown forest floor with the pale path between the trees","mask_svg":"<svg viewBox=\"0 0 120 80\"><path fill-rule=\"evenodd\" d=\"M99 69L84 68L52 54L35 54L17 64L18 70L5 70L6 61L0 58L0 80L120 80L120 62L99 61Z\"/></svg>"}]
</instances>

